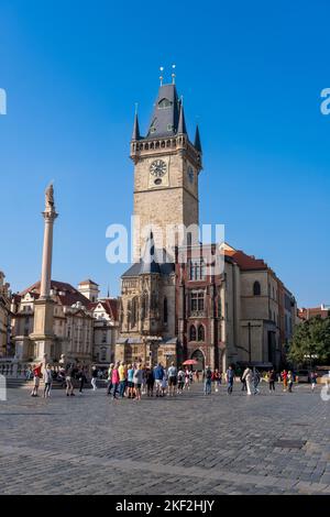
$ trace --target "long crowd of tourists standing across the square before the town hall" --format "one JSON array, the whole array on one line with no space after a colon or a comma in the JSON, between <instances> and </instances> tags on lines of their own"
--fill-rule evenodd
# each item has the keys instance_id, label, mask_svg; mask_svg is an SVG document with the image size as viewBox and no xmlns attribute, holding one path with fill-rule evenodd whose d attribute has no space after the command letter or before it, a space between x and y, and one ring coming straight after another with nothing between
<instances>
[{"instance_id":1,"label":"long crowd of tourists standing across the square before the town hall","mask_svg":"<svg viewBox=\"0 0 330 517\"><path fill-rule=\"evenodd\" d=\"M125 364L124 362L111 363L107 372L102 372L92 366L91 373L88 374L85 366L75 366L68 364L58 371L52 369L47 364L43 370L43 365L34 365L26 377L33 378L32 397L38 396L40 382L43 378L44 388L43 396L51 397L51 391L54 383L65 388L66 396L75 396L75 387L78 393L82 394L85 387L91 387L92 391L98 389L98 381L102 382L102 386L107 387L107 395L112 399L130 398L141 400L142 395L146 397L165 397L183 395L189 392L193 383L202 384L204 395L219 393L222 384L227 385L227 393L233 392L234 384L238 389L246 392L246 395L257 395L260 393L260 384L265 382L268 385L270 393L275 392L275 385L282 384L283 392L293 393L295 375L292 371L284 370L276 373L274 370L260 373L257 369L246 366L244 370L235 370L229 366L227 372L220 372L218 369L211 370L210 366L200 372L182 365L177 367L173 362L169 367L164 367L158 363L151 369L142 363ZM311 391L317 385L317 373L310 373ZM106 381L106 383L105 383Z\"/></svg>"}]
</instances>

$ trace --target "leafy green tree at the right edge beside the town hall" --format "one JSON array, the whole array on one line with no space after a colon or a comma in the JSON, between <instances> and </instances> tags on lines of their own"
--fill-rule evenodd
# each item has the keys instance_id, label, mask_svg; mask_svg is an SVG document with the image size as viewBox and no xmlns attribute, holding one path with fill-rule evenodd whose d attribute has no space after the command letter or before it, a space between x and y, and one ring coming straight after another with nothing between
<instances>
[{"instance_id":1,"label":"leafy green tree at the right edge beside the town hall","mask_svg":"<svg viewBox=\"0 0 330 517\"><path fill-rule=\"evenodd\" d=\"M315 355L317 359L312 359ZM311 359L310 359L311 358ZM330 318L319 316L296 327L288 360L294 363L321 364L330 359Z\"/></svg>"}]
</instances>

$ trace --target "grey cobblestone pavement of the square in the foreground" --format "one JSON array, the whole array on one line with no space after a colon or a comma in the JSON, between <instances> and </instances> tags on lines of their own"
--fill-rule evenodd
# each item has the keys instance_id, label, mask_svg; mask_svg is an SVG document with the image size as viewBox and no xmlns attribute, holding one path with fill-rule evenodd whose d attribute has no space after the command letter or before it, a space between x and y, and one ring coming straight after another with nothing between
<instances>
[{"instance_id":1,"label":"grey cobblestone pavement of the square in the foreground","mask_svg":"<svg viewBox=\"0 0 330 517\"><path fill-rule=\"evenodd\" d=\"M320 388L248 397L202 386L111 400L105 389L0 402L1 494L330 494Z\"/></svg>"}]
</instances>

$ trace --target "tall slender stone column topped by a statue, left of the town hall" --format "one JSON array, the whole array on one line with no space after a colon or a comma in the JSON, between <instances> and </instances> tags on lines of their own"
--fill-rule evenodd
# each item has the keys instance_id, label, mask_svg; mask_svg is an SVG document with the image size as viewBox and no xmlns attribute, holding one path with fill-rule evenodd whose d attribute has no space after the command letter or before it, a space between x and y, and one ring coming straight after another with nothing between
<instances>
[{"instance_id":1,"label":"tall slender stone column topped by a statue, left of the town hall","mask_svg":"<svg viewBox=\"0 0 330 517\"><path fill-rule=\"evenodd\" d=\"M45 220L43 264L40 298L34 302L34 328L30 338L34 341L34 361L51 361L54 355L54 300L51 297L53 227L58 217L54 202L54 187L51 185L45 193Z\"/></svg>"}]
</instances>

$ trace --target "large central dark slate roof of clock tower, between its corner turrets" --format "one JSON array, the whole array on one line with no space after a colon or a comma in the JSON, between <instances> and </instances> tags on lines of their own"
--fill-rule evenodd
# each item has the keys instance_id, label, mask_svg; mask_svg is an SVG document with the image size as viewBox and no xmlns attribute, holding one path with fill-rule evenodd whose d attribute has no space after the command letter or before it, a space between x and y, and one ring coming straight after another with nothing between
<instances>
[{"instance_id":1,"label":"large central dark slate roof of clock tower, between its corner turrets","mask_svg":"<svg viewBox=\"0 0 330 517\"><path fill-rule=\"evenodd\" d=\"M177 133L180 102L175 85L162 85L154 105L147 138L174 136Z\"/></svg>"}]
</instances>

